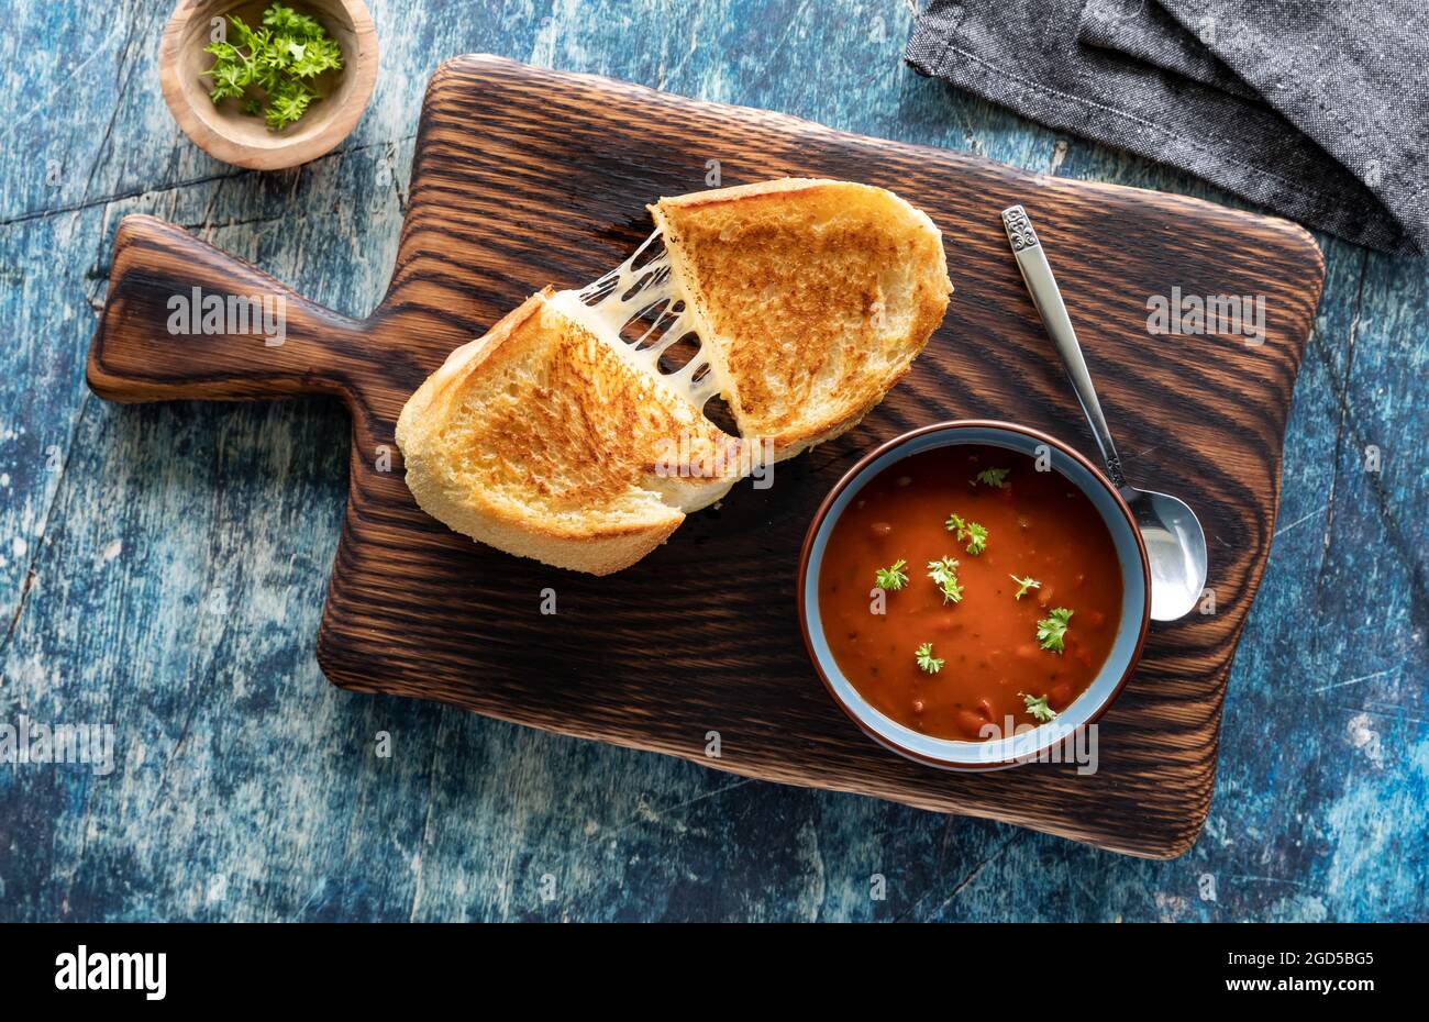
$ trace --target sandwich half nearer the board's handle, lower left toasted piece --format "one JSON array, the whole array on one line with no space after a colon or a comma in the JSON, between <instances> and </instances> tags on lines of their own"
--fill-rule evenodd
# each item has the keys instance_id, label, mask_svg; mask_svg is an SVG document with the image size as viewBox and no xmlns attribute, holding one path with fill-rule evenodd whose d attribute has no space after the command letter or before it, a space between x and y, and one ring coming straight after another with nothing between
<instances>
[{"instance_id":1,"label":"sandwich half nearer the board's handle, lower left toasted piece","mask_svg":"<svg viewBox=\"0 0 1429 1022\"><path fill-rule=\"evenodd\" d=\"M739 477L739 440L532 296L452 353L397 420L407 486L452 529L549 565L626 567Z\"/></svg>"}]
</instances>

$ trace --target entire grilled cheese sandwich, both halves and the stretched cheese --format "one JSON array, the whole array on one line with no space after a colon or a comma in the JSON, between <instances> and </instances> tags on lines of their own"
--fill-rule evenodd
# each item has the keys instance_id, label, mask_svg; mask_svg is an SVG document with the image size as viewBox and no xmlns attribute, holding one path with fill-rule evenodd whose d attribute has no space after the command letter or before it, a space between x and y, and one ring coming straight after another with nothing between
<instances>
[{"instance_id":1,"label":"entire grilled cheese sandwich, both halves and the stretched cheese","mask_svg":"<svg viewBox=\"0 0 1429 1022\"><path fill-rule=\"evenodd\" d=\"M883 189L785 179L649 209L656 236L624 264L532 296L403 407L429 515L557 567L627 567L756 460L857 423L947 306L942 236ZM663 364L687 337L694 356ZM742 436L704 416L714 395Z\"/></svg>"}]
</instances>

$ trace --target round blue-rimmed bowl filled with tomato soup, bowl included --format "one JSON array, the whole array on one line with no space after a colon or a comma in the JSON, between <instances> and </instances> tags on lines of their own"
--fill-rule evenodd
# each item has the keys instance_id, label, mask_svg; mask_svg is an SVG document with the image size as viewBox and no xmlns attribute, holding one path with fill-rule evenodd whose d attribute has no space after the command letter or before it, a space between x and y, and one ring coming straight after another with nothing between
<instances>
[{"instance_id":1,"label":"round blue-rimmed bowl filled with tomato soup, bowl included","mask_svg":"<svg viewBox=\"0 0 1429 1022\"><path fill-rule=\"evenodd\" d=\"M1110 705L1150 619L1146 547L1082 455L949 422L867 455L805 539L799 617L835 702L950 768L1046 753Z\"/></svg>"}]
</instances>

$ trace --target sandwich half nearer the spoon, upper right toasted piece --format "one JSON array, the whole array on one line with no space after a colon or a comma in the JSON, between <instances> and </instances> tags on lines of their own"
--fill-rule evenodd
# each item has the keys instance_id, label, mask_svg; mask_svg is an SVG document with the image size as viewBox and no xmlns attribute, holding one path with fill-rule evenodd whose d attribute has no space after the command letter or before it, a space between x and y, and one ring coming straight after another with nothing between
<instances>
[{"instance_id":1,"label":"sandwich half nearer the spoon, upper right toasted piece","mask_svg":"<svg viewBox=\"0 0 1429 1022\"><path fill-rule=\"evenodd\" d=\"M776 459L867 415L947 307L942 234L885 189L783 179L649 209L740 433Z\"/></svg>"}]
</instances>

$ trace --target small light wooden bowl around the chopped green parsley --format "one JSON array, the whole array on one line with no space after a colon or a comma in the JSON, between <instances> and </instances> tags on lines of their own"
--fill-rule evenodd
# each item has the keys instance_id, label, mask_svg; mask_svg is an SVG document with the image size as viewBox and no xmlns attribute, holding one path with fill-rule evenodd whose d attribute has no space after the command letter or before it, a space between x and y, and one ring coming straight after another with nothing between
<instances>
[{"instance_id":1,"label":"small light wooden bowl around the chopped green parsley","mask_svg":"<svg viewBox=\"0 0 1429 1022\"><path fill-rule=\"evenodd\" d=\"M237 14L257 27L269 1L180 0L159 46L159 81L179 127L210 156L253 170L296 167L330 150L357 126L377 80L377 30L363 0L296 0L290 6L314 16L343 47L342 70L317 79L323 99L280 132L243 113L239 100L214 106L203 76L213 66L203 47L214 19Z\"/></svg>"}]
</instances>

